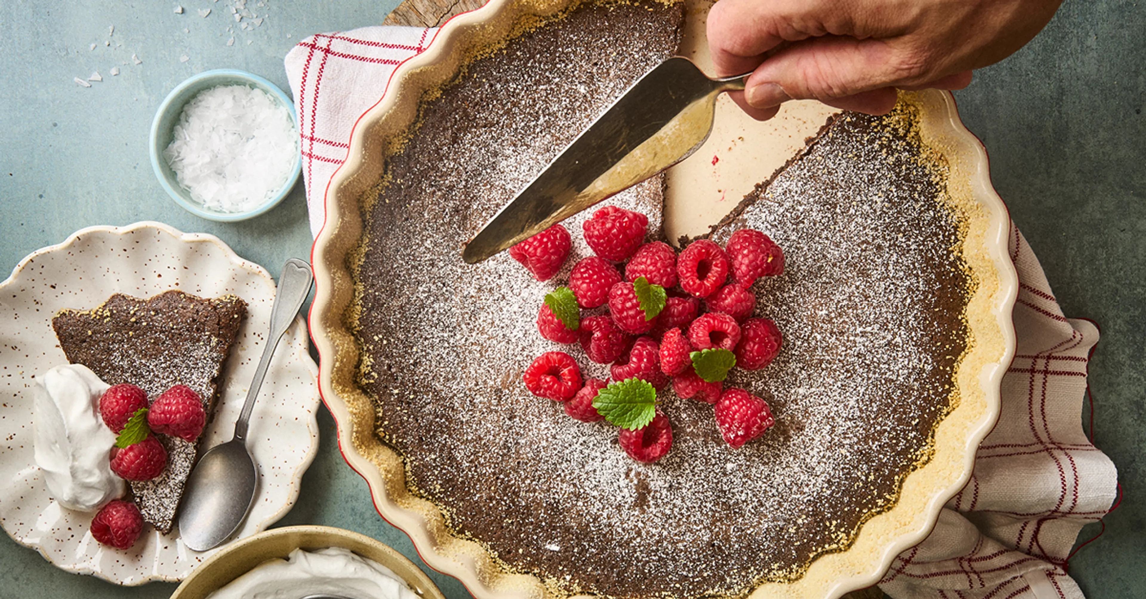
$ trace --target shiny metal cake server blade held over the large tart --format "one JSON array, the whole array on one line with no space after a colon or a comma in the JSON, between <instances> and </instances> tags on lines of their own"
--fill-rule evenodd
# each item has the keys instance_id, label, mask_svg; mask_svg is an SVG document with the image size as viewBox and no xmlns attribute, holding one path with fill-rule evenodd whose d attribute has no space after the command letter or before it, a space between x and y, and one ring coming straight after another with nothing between
<instances>
[{"instance_id":1,"label":"shiny metal cake server blade held over the large tart","mask_svg":"<svg viewBox=\"0 0 1146 599\"><path fill-rule=\"evenodd\" d=\"M466 243L481 262L686 158L712 132L716 96L747 75L709 79L674 56L653 67Z\"/></svg>"}]
</instances>

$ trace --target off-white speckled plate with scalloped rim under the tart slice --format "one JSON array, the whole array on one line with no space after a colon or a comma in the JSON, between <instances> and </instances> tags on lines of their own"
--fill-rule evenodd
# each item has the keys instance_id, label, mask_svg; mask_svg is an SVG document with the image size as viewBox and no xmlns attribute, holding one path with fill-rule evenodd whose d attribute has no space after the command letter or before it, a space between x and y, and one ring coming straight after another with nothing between
<instances>
[{"instance_id":1,"label":"off-white speckled plate with scalloped rim under the tart slice","mask_svg":"<svg viewBox=\"0 0 1146 599\"><path fill-rule=\"evenodd\" d=\"M203 297L234 294L248 303L205 433L203 446L210 448L230 438L262 352L275 296L265 269L212 235L136 223L81 230L28 256L0 283L0 526L61 569L124 585L178 582L217 551L191 551L178 527L167 535L146 527L127 551L104 547L88 531L93 514L52 499L32 460L32 376L68 361L52 317L63 308L95 308L115 293L150 297L168 289ZM319 448L317 367L301 319L283 341L251 419L259 487L235 538L265 530L290 511Z\"/></svg>"}]
</instances>

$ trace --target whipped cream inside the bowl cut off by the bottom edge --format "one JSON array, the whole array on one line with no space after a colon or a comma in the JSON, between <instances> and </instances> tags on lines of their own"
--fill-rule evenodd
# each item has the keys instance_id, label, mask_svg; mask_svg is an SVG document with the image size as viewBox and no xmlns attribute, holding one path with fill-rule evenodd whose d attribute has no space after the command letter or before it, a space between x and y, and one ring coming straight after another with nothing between
<instances>
[{"instance_id":1,"label":"whipped cream inside the bowl cut off by the bottom edge","mask_svg":"<svg viewBox=\"0 0 1146 599\"><path fill-rule=\"evenodd\" d=\"M207 599L300 599L330 593L351 599L419 599L385 566L350 550L297 549L283 559L265 561L207 596Z\"/></svg>"}]
</instances>

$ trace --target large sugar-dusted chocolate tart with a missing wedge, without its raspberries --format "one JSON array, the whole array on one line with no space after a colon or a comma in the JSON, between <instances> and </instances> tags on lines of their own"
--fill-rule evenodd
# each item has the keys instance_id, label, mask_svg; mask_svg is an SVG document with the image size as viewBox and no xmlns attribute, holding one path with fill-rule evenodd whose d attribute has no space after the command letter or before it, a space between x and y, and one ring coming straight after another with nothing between
<instances>
[{"instance_id":1,"label":"large sugar-dusted chocolate tart with a missing wedge, without its raspberries","mask_svg":"<svg viewBox=\"0 0 1146 599\"><path fill-rule=\"evenodd\" d=\"M761 172L711 234L723 243L751 226L787 257L784 275L755 287L756 314L779 325L784 350L729 382L775 397L775 429L733 450L712 406L666 391L673 449L645 465L620 451L615 427L574 421L525 389L521 372L551 350L609 378L535 326L545 293L590 255L589 213L564 223L573 250L549 282L504 252L465 265L460 248L673 53L678 24L676 7L588 3L476 59L423 101L362 209L347 318L377 435L453 535L557 596L740 597L799 578L895 504L958 402L965 226L909 103L834 118L780 172ZM662 236L661 185L609 203L646 213Z\"/></svg>"}]
</instances>

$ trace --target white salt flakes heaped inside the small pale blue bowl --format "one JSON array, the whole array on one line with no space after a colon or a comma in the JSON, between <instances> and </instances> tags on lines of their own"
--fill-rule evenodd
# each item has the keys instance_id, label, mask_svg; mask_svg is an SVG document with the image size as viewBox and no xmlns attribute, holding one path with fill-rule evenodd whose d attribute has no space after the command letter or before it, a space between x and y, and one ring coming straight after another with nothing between
<instances>
[{"instance_id":1,"label":"white salt flakes heaped inside the small pale blue bowl","mask_svg":"<svg viewBox=\"0 0 1146 599\"><path fill-rule=\"evenodd\" d=\"M261 90L212 87L183 107L164 150L180 186L205 208L243 212L282 189L298 154L290 112Z\"/></svg>"}]
</instances>

